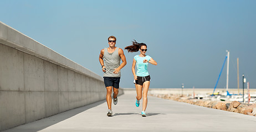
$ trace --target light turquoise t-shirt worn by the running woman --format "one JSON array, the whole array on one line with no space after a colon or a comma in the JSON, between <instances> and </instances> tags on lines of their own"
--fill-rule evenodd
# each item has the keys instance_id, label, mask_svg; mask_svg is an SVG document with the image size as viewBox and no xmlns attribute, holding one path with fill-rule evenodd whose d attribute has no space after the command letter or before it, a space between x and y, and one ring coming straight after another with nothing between
<instances>
[{"instance_id":1,"label":"light turquoise t-shirt worn by the running woman","mask_svg":"<svg viewBox=\"0 0 256 132\"><path fill-rule=\"evenodd\" d=\"M147 72L147 65L149 64L149 61L151 59L150 56L140 57L139 55L136 55L134 57L137 65L137 76L148 76L149 72ZM147 59L147 63L144 63L143 60Z\"/></svg>"}]
</instances>

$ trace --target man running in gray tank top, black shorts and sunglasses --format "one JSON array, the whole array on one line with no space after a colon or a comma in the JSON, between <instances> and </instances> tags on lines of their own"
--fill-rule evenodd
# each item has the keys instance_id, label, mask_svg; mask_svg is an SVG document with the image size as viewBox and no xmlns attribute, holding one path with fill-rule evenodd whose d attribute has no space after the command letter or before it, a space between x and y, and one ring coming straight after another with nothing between
<instances>
[{"instance_id":1,"label":"man running in gray tank top, black shorts and sunglasses","mask_svg":"<svg viewBox=\"0 0 256 132\"><path fill-rule=\"evenodd\" d=\"M111 94L112 94L112 87L113 87L113 103L114 105L117 104L117 94L119 89L119 82L120 82L120 70L126 65L126 58L124 51L116 47L116 37L110 36L107 38L109 41L109 47L104 48L100 51L99 61L101 64L101 68L104 72L104 84L106 86L106 102L107 107L109 110L107 111L107 116L112 116L112 109L111 109ZM120 59L122 59L122 63L120 64Z\"/></svg>"}]
</instances>

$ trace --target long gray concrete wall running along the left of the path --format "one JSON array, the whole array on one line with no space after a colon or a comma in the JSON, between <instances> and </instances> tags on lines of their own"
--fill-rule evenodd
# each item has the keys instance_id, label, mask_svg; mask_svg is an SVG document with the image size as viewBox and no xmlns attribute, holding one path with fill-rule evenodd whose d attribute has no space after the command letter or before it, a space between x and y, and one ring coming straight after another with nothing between
<instances>
[{"instance_id":1,"label":"long gray concrete wall running along the left of the path","mask_svg":"<svg viewBox=\"0 0 256 132\"><path fill-rule=\"evenodd\" d=\"M102 76L0 21L0 131L105 97Z\"/></svg>"}]
</instances>

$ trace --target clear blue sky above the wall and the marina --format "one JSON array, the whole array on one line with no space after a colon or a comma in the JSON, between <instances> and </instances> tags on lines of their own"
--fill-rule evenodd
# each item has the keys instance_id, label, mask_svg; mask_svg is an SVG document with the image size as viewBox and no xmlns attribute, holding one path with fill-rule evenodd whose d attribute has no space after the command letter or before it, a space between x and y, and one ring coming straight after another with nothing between
<instances>
[{"instance_id":1,"label":"clear blue sky above the wall and the marina","mask_svg":"<svg viewBox=\"0 0 256 132\"><path fill-rule=\"evenodd\" d=\"M256 88L256 1L14 1L0 0L0 21L103 75L99 53L107 37L124 49L147 44L151 88L213 88L230 51L229 88L242 74ZM121 87L134 87L132 59ZM226 87L227 63L217 85Z\"/></svg>"}]
</instances>

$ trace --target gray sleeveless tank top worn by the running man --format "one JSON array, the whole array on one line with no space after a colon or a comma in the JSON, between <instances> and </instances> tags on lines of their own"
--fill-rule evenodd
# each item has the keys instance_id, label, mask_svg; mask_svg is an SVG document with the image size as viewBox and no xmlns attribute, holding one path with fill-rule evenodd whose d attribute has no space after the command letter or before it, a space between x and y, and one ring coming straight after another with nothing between
<instances>
[{"instance_id":1,"label":"gray sleeveless tank top worn by the running man","mask_svg":"<svg viewBox=\"0 0 256 132\"><path fill-rule=\"evenodd\" d=\"M116 47L116 50L113 53L109 53L107 48L104 48L104 65L106 67L106 72L104 72L103 76L109 77L120 77L121 73L114 74L114 69L120 66L121 57L118 54L119 47Z\"/></svg>"}]
</instances>

